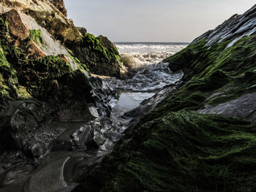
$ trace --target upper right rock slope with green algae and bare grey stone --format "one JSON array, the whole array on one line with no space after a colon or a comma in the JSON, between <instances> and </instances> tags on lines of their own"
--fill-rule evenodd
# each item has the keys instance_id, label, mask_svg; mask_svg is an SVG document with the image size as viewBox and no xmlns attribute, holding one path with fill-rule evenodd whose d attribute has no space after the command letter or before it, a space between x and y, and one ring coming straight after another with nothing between
<instances>
[{"instance_id":1,"label":"upper right rock slope with green algae and bare grey stone","mask_svg":"<svg viewBox=\"0 0 256 192\"><path fill-rule=\"evenodd\" d=\"M182 89L184 98L191 96L192 91L203 96L200 106L195 108L200 108L198 112L223 114L256 123L253 104L256 91L255 9L256 6L244 15L234 15L214 31L195 39L180 53L165 59L170 69L182 69L184 80L189 80ZM170 99L179 110L186 99L178 101L176 98ZM193 100L190 102L197 102Z\"/></svg>"}]
</instances>

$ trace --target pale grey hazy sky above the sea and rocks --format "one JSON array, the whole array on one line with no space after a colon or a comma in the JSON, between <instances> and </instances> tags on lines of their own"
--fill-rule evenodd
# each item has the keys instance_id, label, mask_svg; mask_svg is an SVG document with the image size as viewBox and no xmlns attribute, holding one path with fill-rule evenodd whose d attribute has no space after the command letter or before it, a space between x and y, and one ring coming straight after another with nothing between
<instances>
[{"instance_id":1,"label":"pale grey hazy sky above the sea and rocks","mask_svg":"<svg viewBox=\"0 0 256 192\"><path fill-rule=\"evenodd\" d=\"M64 0L67 17L113 42L192 42L255 0Z\"/></svg>"}]
</instances>

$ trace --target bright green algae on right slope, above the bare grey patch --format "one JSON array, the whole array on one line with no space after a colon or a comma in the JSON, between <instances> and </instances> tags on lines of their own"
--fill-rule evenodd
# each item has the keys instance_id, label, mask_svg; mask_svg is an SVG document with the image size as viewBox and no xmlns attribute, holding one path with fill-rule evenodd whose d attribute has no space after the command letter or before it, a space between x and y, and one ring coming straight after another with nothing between
<instances>
[{"instance_id":1,"label":"bright green algae on right slope, above the bare grey patch","mask_svg":"<svg viewBox=\"0 0 256 192\"><path fill-rule=\"evenodd\" d=\"M177 53L174 57L167 58L165 61L169 62L170 68L172 64L183 62L178 69L184 70L184 80L187 80L187 83L177 92L181 94L178 98L189 96L192 91L201 91L206 97L219 92L222 94L214 99L206 99L205 103L218 104L236 99L245 93L255 92L256 42L250 41L252 38L253 36L243 37L232 47L227 47L230 41L207 47L204 46L206 42L203 39L189 45L186 50ZM187 54L187 50L189 53L197 53L197 57ZM171 100L173 102L169 102ZM167 105L176 103L174 95L165 101ZM191 103L191 101L187 102ZM201 103L200 106L197 104L194 106L198 108L203 105Z\"/></svg>"}]
</instances>

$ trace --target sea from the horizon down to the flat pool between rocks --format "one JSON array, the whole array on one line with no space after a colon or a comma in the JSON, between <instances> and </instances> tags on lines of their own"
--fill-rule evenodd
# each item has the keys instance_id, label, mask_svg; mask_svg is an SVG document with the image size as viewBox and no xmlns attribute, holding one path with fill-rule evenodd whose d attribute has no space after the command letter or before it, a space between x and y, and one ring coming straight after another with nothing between
<instances>
[{"instance_id":1,"label":"sea from the horizon down to the flat pool between rocks","mask_svg":"<svg viewBox=\"0 0 256 192\"><path fill-rule=\"evenodd\" d=\"M115 45L122 58L122 72L126 75L121 80L108 79L118 91L118 98L112 102L113 110L132 110L183 76L181 71L171 72L168 64L162 61L187 47L187 42L115 42Z\"/></svg>"}]
</instances>

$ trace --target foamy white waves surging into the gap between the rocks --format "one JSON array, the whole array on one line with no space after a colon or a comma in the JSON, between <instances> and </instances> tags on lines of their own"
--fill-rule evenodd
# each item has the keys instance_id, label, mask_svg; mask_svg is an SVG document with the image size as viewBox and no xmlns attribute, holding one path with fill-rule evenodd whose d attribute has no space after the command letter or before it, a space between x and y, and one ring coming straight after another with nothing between
<instances>
[{"instance_id":1,"label":"foamy white waves surging into the gap between the rocks","mask_svg":"<svg viewBox=\"0 0 256 192\"><path fill-rule=\"evenodd\" d=\"M110 78L114 88L132 92L154 92L181 79L182 72L173 73L165 58L186 47L170 43L119 43L124 80Z\"/></svg>"}]
</instances>

